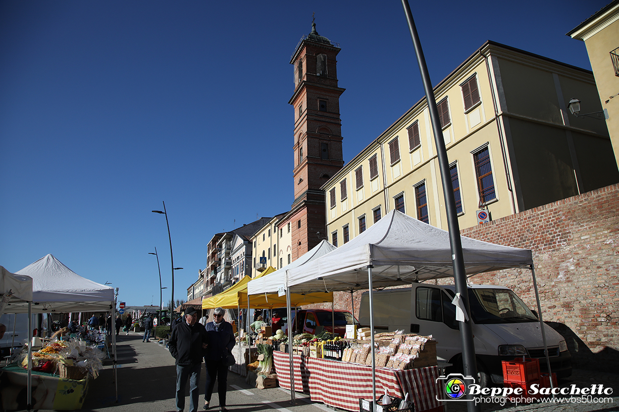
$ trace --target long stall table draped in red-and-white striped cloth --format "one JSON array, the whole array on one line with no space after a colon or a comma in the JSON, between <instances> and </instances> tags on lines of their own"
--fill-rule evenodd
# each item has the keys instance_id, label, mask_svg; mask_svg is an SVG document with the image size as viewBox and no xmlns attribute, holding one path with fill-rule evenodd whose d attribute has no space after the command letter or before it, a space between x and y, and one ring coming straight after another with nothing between
<instances>
[{"instance_id":1,"label":"long stall table draped in red-and-white striped cloth","mask_svg":"<svg viewBox=\"0 0 619 412\"><path fill-rule=\"evenodd\" d=\"M273 358L280 387L290 389L290 355L275 351ZM360 399L371 400L370 366L299 355L293 359L295 391L309 393L311 400L355 412ZM443 411L443 403L436 400L438 377L436 366L404 371L376 368L376 393L384 393L384 388L398 398L409 393L415 411Z\"/></svg>"}]
</instances>

